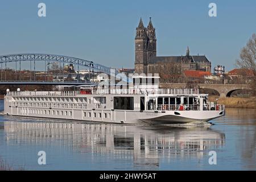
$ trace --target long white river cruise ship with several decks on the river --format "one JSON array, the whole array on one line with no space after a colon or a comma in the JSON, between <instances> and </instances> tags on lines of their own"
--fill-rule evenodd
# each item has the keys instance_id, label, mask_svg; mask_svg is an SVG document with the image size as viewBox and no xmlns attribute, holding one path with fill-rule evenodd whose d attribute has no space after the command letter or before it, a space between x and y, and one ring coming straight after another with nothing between
<instances>
[{"instance_id":1,"label":"long white river cruise ship with several decks on the river","mask_svg":"<svg viewBox=\"0 0 256 182\"><path fill-rule=\"evenodd\" d=\"M159 89L156 78L139 77L142 79L146 80L145 85L139 81L129 89L97 87L51 92L7 89L4 113L60 121L153 125L205 123L225 115L224 105L209 102L208 94L200 94L199 89Z\"/></svg>"}]
</instances>

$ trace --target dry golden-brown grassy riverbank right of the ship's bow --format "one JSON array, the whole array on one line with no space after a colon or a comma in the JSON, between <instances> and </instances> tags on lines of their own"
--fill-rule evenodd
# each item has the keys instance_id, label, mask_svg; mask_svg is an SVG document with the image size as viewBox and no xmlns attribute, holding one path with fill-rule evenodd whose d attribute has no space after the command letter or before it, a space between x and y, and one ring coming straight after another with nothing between
<instances>
[{"instance_id":1,"label":"dry golden-brown grassy riverbank right of the ship's bow","mask_svg":"<svg viewBox=\"0 0 256 182\"><path fill-rule=\"evenodd\" d=\"M209 96L209 101L215 102L218 97ZM256 97L220 97L217 104L223 104L225 107L256 108Z\"/></svg>"}]
</instances>

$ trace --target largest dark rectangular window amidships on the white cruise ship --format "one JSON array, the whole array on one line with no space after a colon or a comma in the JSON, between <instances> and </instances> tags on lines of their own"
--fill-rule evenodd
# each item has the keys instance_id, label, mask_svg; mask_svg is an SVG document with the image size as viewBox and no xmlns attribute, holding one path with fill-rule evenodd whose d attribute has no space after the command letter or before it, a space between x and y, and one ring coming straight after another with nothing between
<instances>
[{"instance_id":1,"label":"largest dark rectangular window amidships on the white cruise ship","mask_svg":"<svg viewBox=\"0 0 256 182\"><path fill-rule=\"evenodd\" d=\"M134 110L134 98L114 97L114 109Z\"/></svg>"}]
</instances>

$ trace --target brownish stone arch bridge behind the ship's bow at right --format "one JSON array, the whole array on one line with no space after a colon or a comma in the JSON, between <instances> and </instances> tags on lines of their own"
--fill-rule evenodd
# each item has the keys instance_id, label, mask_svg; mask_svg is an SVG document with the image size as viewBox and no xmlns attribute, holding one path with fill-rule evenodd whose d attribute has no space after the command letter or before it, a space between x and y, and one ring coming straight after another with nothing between
<instances>
[{"instance_id":1,"label":"brownish stone arch bridge behind the ship's bow at right","mask_svg":"<svg viewBox=\"0 0 256 182\"><path fill-rule=\"evenodd\" d=\"M247 84L175 84L175 83L161 83L160 88L199 88L216 90L220 97L230 97L236 90L251 90L250 85Z\"/></svg>"}]
</instances>

